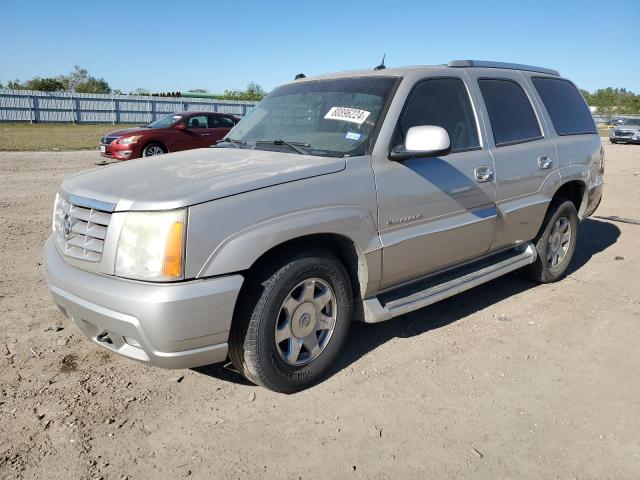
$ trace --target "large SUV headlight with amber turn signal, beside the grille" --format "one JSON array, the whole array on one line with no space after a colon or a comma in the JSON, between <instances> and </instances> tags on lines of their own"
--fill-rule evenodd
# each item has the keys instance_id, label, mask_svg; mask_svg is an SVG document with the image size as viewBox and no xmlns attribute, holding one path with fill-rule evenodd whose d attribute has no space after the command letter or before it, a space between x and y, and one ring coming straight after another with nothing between
<instances>
[{"instance_id":1,"label":"large SUV headlight with amber turn signal, beside the grille","mask_svg":"<svg viewBox=\"0 0 640 480\"><path fill-rule=\"evenodd\" d=\"M187 210L129 212L116 250L115 274L167 282L184 278Z\"/></svg>"}]
</instances>

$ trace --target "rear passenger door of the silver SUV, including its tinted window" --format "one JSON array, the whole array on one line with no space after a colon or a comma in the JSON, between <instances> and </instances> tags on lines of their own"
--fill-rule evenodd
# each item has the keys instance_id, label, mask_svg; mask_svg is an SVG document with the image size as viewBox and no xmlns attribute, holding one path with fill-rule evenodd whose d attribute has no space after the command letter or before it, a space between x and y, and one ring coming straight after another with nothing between
<instances>
[{"instance_id":1,"label":"rear passenger door of the silver SUV, including its tinted window","mask_svg":"<svg viewBox=\"0 0 640 480\"><path fill-rule=\"evenodd\" d=\"M468 69L488 120L496 167L496 235L491 250L534 238L549 198L542 187L558 158L532 91L519 71Z\"/></svg>"}]
</instances>

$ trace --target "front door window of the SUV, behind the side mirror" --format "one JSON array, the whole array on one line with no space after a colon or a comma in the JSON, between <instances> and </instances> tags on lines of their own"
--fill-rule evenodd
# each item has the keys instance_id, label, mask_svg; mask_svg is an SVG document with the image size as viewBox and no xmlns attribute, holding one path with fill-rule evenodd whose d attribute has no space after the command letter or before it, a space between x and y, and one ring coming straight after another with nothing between
<instances>
[{"instance_id":1,"label":"front door window of the SUV, behind the side mirror","mask_svg":"<svg viewBox=\"0 0 640 480\"><path fill-rule=\"evenodd\" d=\"M416 85L396 127L394 146L404 143L407 130L419 125L444 128L452 151L480 147L469 94L459 78L432 78Z\"/></svg>"}]
</instances>

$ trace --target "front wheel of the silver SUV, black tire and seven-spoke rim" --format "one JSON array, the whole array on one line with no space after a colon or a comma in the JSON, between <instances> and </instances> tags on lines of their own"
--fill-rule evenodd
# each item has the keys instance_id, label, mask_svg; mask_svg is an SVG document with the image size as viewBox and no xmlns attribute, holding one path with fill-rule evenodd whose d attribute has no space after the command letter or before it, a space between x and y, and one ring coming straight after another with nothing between
<instances>
[{"instance_id":1,"label":"front wheel of the silver SUV, black tire and seven-spoke rim","mask_svg":"<svg viewBox=\"0 0 640 480\"><path fill-rule=\"evenodd\" d=\"M237 305L232 363L257 385L294 393L317 383L334 363L349 333L353 293L342 263L317 250L260 269Z\"/></svg>"}]
</instances>

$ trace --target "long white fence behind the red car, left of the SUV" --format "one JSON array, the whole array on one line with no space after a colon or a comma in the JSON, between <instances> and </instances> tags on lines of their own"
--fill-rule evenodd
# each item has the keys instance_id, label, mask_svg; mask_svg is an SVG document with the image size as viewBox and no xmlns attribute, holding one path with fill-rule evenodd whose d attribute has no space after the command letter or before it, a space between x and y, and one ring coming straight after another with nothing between
<instances>
[{"instance_id":1,"label":"long white fence behind the red car, left of the SUV","mask_svg":"<svg viewBox=\"0 0 640 480\"><path fill-rule=\"evenodd\" d=\"M152 122L178 111L244 116L255 102L190 97L101 95L0 89L0 122L133 123Z\"/></svg>"}]
</instances>

